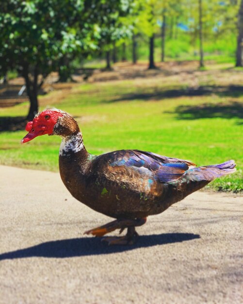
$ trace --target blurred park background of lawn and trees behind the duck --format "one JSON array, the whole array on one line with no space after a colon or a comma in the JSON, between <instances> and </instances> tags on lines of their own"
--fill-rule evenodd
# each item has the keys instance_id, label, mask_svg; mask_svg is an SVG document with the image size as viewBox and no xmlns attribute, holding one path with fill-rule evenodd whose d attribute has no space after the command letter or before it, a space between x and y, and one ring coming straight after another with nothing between
<instances>
[{"instance_id":1,"label":"blurred park background of lawn and trees behind the duck","mask_svg":"<svg viewBox=\"0 0 243 304\"><path fill-rule=\"evenodd\" d=\"M44 108L73 115L92 153L235 159L243 191L243 0L0 3L0 164L58 170L59 138L19 145Z\"/></svg>"}]
</instances>

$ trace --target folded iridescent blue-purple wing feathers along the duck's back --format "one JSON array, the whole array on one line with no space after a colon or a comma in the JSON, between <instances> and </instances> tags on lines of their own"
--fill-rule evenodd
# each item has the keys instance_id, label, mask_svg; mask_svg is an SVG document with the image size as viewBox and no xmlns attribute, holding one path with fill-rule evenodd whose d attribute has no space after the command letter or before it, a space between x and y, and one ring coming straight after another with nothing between
<instances>
[{"instance_id":1,"label":"folded iridescent blue-purple wing feathers along the duck's back","mask_svg":"<svg viewBox=\"0 0 243 304\"><path fill-rule=\"evenodd\" d=\"M133 168L142 176L143 173L150 173L154 180L162 183L178 180L189 166L195 166L186 160L140 150L120 150L108 154L109 166Z\"/></svg>"}]
</instances>

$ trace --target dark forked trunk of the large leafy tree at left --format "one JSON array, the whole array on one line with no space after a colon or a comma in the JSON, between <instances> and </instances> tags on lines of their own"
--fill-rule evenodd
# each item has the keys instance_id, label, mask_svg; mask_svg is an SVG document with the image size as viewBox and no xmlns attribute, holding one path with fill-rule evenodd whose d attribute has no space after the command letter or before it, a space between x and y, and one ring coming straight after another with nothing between
<instances>
[{"instance_id":1,"label":"dark forked trunk of the large leafy tree at left","mask_svg":"<svg viewBox=\"0 0 243 304\"><path fill-rule=\"evenodd\" d=\"M32 120L35 114L38 113L38 68L37 65L33 71L33 81L29 78L29 66L25 65L23 67L23 77L25 79L26 91L30 100L29 113L27 115L28 120Z\"/></svg>"}]
</instances>

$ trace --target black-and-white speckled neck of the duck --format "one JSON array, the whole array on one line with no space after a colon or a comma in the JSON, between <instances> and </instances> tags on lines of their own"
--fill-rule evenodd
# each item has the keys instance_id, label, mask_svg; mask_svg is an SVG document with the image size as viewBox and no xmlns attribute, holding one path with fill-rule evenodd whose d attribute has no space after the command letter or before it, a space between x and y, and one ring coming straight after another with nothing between
<instances>
[{"instance_id":1,"label":"black-and-white speckled neck of the duck","mask_svg":"<svg viewBox=\"0 0 243 304\"><path fill-rule=\"evenodd\" d=\"M73 154L83 154L83 156L86 156L88 154L83 145L82 133L80 130L72 135L62 137L63 140L61 142L59 156L69 157Z\"/></svg>"}]
</instances>

